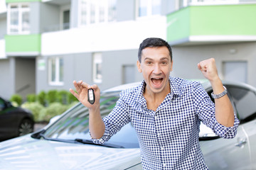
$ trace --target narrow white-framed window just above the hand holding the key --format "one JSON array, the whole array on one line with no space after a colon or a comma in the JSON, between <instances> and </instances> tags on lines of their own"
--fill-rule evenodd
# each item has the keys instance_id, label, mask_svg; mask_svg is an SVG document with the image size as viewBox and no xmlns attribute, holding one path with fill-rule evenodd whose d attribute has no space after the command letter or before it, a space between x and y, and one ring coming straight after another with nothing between
<instances>
[{"instance_id":1,"label":"narrow white-framed window just above the hand holding the key","mask_svg":"<svg viewBox=\"0 0 256 170\"><path fill-rule=\"evenodd\" d=\"M102 83L102 54L93 54L93 81L95 83Z\"/></svg>"}]
</instances>

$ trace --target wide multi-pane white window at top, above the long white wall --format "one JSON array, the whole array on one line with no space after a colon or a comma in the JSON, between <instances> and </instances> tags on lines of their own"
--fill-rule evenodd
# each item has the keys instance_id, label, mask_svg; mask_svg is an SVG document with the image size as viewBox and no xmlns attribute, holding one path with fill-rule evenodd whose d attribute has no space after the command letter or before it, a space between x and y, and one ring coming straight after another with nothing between
<instances>
[{"instance_id":1,"label":"wide multi-pane white window at top, above the long white wall","mask_svg":"<svg viewBox=\"0 0 256 170\"><path fill-rule=\"evenodd\" d=\"M80 25L116 20L117 0L80 0Z\"/></svg>"}]
</instances>

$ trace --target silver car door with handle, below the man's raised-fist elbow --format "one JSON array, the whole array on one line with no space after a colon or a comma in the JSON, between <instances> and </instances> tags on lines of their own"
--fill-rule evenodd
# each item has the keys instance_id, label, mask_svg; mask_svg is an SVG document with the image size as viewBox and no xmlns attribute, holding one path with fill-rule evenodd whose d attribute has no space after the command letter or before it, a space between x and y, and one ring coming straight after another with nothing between
<instances>
[{"instance_id":1,"label":"silver car door with handle, below the man's raised-fist elbow","mask_svg":"<svg viewBox=\"0 0 256 170\"><path fill-rule=\"evenodd\" d=\"M211 92L208 91L208 94ZM233 103L233 98L230 94L228 96ZM209 169L250 169L250 146L247 143L244 125L238 126L238 133L233 139L211 139L212 137L209 137L209 140L200 142Z\"/></svg>"}]
</instances>

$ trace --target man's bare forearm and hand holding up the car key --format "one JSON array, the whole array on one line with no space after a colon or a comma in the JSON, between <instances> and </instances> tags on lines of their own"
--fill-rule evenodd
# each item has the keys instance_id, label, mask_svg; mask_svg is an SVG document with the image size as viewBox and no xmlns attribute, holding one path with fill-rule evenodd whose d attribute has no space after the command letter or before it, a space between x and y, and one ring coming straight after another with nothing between
<instances>
[{"instance_id":1,"label":"man's bare forearm and hand holding up the car key","mask_svg":"<svg viewBox=\"0 0 256 170\"><path fill-rule=\"evenodd\" d=\"M92 139L100 139L105 132L105 124L100 115L100 89L97 85L88 85L82 81L73 81L75 90L78 93L75 93L73 89L70 89L71 94L73 94L78 101L80 101L85 107L89 109L89 129ZM87 99L88 89L93 89L95 92L95 103L91 104Z\"/></svg>"}]
</instances>

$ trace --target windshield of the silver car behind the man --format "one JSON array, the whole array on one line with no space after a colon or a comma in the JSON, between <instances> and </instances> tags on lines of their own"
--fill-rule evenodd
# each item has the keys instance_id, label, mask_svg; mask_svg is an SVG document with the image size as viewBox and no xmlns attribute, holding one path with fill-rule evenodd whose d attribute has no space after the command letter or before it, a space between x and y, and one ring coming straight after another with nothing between
<instances>
[{"instance_id":1,"label":"windshield of the silver car behind the man","mask_svg":"<svg viewBox=\"0 0 256 170\"><path fill-rule=\"evenodd\" d=\"M102 118L108 115L119 99L119 92L110 92L101 95L100 113ZM81 103L65 113L59 120L44 132L43 137L49 140L60 141L91 141L89 132L89 112ZM129 123L116 135L113 135L105 145L113 145L124 148L139 147L137 134Z\"/></svg>"}]
</instances>

